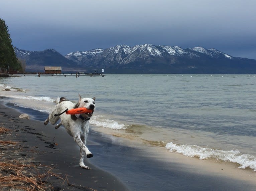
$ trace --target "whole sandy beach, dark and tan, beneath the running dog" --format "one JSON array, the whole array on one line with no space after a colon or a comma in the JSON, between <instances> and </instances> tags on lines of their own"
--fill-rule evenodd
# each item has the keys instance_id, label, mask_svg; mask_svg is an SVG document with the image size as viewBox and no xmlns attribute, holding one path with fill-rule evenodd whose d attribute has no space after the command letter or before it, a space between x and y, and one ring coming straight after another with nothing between
<instances>
[{"instance_id":1,"label":"whole sandy beach, dark and tan, beneath the running dog","mask_svg":"<svg viewBox=\"0 0 256 191\"><path fill-rule=\"evenodd\" d=\"M253 170L239 169L234 163L163 152L161 147L148 147L121 134L108 135L104 132L106 129L100 131L96 127L91 128L87 144L94 157L85 159L91 170L84 170L78 165L79 148L64 128L55 130L52 125L44 126L45 116L40 118L40 112L35 112L37 117L33 119L19 119L21 113L30 115L31 111L26 108L18 111L0 103L0 125L11 130L1 135L1 140L16 141L20 145L19 149L14 146L0 149L0 159L6 162L19 156L21 163L33 162L53 168L54 174L49 174L46 181L48 190L239 191L256 188ZM13 155L16 149L18 152ZM4 157L6 155L10 159ZM4 173L0 171L2 176Z\"/></svg>"}]
</instances>

